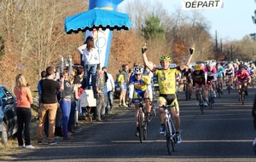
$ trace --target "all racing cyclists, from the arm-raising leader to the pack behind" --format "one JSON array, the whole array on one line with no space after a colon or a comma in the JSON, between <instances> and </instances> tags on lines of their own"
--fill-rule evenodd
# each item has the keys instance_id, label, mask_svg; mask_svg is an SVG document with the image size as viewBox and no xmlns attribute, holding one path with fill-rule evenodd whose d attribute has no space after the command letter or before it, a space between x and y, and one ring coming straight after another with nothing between
<instances>
[{"instance_id":1,"label":"all racing cyclists, from the arm-raising leader to the pack behind","mask_svg":"<svg viewBox=\"0 0 256 162\"><path fill-rule=\"evenodd\" d=\"M189 93L192 94L192 90L195 89L196 104L198 103L198 88L202 88L202 94L204 97L203 105L207 107L208 105L208 90L212 90L212 97L216 97L216 83L220 84L221 94L223 94L223 84L230 84L233 87L234 84L238 84L238 88L241 88L241 84L246 87L247 95L247 83L251 83L252 78L255 76L255 65L253 62L247 63L241 62L226 62L224 64L220 62L208 62L207 65L201 63L194 67L189 67L189 63L192 59L195 49L189 48L189 56L182 65L178 67L170 67L172 59L169 55L160 56L160 67L157 68L151 61L148 61L146 55L147 47L142 48L143 62L147 70L154 73L157 77L159 84L159 96L157 99L156 107L159 107L159 117L160 117L160 135L165 133L164 125L164 110L163 106L170 105L172 116L175 120L177 143L182 142L180 135L180 116L179 116L179 106L177 101L177 76L181 76L180 80L185 81L189 84ZM147 108L148 116L150 116L150 111L153 102L153 90L151 84L151 78L144 74L143 67L134 67L133 74L129 79L129 91L128 91L128 102L136 107L136 136L138 136L138 112L139 112L139 101L138 98L145 99L145 107ZM191 96L191 95L189 95ZM215 101L212 100L212 103ZM173 107L175 105L175 107Z\"/></svg>"}]
</instances>

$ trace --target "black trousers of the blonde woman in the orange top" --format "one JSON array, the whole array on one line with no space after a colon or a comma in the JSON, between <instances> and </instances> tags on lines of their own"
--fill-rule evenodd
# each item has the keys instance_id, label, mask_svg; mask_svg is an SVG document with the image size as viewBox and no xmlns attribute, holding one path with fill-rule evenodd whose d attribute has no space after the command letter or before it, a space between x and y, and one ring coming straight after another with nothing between
<instances>
[{"instance_id":1,"label":"black trousers of the blonde woman in the orange top","mask_svg":"<svg viewBox=\"0 0 256 162\"><path fill-rule=\"evenodd\" d=\"M25 139L25 145L31 145L30 142L30 121L31 121L31 109L30 108L23 108L23 107L17 107L16 109L17 113L17 122L18 122L18 132L17 132L17 139L19 146L23 146L23 125L24 128L24 139Z\"/></svg>"}]
</instances>

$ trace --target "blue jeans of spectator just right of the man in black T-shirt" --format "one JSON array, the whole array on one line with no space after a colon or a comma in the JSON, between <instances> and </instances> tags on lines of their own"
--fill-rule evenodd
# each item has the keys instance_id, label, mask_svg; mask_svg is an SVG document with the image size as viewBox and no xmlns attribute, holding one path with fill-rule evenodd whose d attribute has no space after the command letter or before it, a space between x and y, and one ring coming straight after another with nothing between
<instances>
[{"instance_id":1,"label":"blue jeans of spectator just right of the man in black T-shirt","mask_svg":"<svg viewBox=\"0 0 256 162\"><path fill-rule=\"evenodd\" d=\"M63 129L63 136L67 137L67 123L69 120L71 103L69 101L61 100L61 110L62 110L62 129Z\"/></svg>"}]
</instances>

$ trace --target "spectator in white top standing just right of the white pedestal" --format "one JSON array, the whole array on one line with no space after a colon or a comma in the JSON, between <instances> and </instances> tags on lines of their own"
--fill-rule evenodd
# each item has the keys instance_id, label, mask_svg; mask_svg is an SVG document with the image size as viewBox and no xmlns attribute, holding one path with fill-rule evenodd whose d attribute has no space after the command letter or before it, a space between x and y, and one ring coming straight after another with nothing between
<instances>
[{"instance_id":1,"label":"spectator in white top standing just right of the white pedestal","mask_svg":"<svg viewBox=\"0 0 256 162\"><path fill-rule=\"evenodd\" d=\"M107 67L102 67L102 71L104 72L104 83L106 86L106 113L112 110L113 108L113 91L114 91L114 82L113 76L107 72ZM108 108L109 104L109 108Z\"/></svg>"}]
</instances>

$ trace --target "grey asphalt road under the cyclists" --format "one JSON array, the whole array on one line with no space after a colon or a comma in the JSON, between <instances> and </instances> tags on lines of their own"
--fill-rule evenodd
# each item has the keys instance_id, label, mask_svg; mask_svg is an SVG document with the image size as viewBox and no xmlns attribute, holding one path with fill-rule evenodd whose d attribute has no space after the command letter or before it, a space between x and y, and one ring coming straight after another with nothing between
<instances>
[{"instance_id":1,"label":"grey asphalt road under the cyclists","mask_svg":"<svg viewBox=\"0 0 256 162\"><path fill-rule=\"evenodd\" d=\"M15 161L256 161L253 152L253 96L250 89L246 103L241 106L238 92L228 95L224 91L216 99L212 109L206 107L201 115L195 106L195 96L184 100L183 92L178 100L181 109L183 142L177 151L168 154L164 136L159 135L158 116L148 125L148 139L139 142L135 136L134 109L102 123L86 123L71 141L57 146L36 146L15 155ZM45 140L46 142L46 140Z\"/></svg>"}]
</instances>

